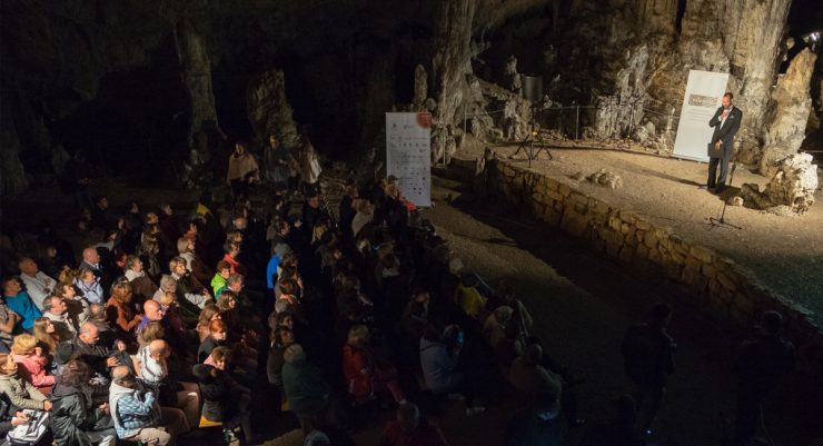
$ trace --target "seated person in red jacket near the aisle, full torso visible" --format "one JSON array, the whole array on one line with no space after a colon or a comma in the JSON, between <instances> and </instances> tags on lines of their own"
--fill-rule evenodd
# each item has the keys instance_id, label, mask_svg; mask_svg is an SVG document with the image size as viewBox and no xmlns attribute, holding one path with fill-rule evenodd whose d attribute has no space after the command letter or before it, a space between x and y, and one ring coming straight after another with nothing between
<instances>
[{"instance_id":1,"label":"seated person in red jacket near the aisle, full torso visible","mask_svg":"<svg viewBox=\"0 0 823 446\"><path fill-rule=\"evenodd\" d=\"M343 347L343 376L348 394L356 403L365 403L388 390L397 404L405 404L406 396L397 383L397 370L371 351L368 339L365 325L349 328L348 340Z\"/></svg>"}]
</instances>

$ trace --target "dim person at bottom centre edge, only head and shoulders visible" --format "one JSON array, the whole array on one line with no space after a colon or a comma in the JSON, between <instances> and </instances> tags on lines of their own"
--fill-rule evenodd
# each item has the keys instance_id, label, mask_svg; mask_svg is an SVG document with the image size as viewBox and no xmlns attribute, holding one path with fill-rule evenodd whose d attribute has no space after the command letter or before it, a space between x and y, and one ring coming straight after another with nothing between
<instances>
[{"instance_id":1,"label":"dim person at bottom centre edge, only head and shoulders visible","mask_svg":"<svg viewBox=\"0 0 823 446\"><path fill-rule=\"evenodd\" d=\"M397 408L397 418L386 424L380 446L448 446L448 442L437 426L420 418L414 403L407 403Z\"/></svg>"}]
</instances>

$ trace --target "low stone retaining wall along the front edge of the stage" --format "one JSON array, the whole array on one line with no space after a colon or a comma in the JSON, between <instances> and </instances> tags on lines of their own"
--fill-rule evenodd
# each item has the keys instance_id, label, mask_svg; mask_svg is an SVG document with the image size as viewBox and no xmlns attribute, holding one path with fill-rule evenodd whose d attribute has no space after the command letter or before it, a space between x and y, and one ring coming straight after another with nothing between
<instances>
[{"instance_id":1,"label":"low stone retaining wall along the front edge of the stage","mask_svg":"<svg viewBox=\"0 0 823 446\"><path fill-rule=\"evenodd\" d=\"M795 343L817 348L823 345L823 335L807 320L803 308L770 293L751 272L720 252L591 197L563 180L507 161L489 162L487 175L492 194L498 198L585 240L633 272L681 283L690 289L696 305L708 307L721 318L751 326L763 311L774 309L784 315L787 333Z\"/></svg>"}]
</instances>

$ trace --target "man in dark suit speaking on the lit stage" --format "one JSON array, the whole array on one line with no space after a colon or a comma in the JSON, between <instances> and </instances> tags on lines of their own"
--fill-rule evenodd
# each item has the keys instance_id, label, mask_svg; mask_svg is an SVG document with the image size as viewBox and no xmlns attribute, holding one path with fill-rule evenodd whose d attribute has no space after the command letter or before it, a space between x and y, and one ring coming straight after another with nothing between
<instances>
[{"instance_id":1,"label":"man in dark suit speaking on the lit stage","mask_svg":"<svg viewBox=\"0 0 823 446\"><path fill-rule=\"evenodd\" d=\"M708 121L710 127L714 127L712 142L708 146L708 189L715 189L720 194L726 187L726 175L728 174L728 160L734 153L734 136L740 129L740 122L743 120L743 111L732 105L734 96L732 93L723 95L721 108L714 113ZM717 178L717 163L721 165L721 175Z\"/></svg>"}]
</instances>

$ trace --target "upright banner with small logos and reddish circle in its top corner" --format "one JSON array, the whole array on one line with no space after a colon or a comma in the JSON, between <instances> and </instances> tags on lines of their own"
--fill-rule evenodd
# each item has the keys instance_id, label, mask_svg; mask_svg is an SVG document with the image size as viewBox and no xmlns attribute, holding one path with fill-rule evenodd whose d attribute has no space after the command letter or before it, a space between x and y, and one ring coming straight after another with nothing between
<instances>
[{"instance_id":1,"label":"upright banner with small logos and reddish circle in its top corner","mask_svg":"<svg viewBox=\"0 0 823 446\"><path fill-rule=\"evenodd\" d=\"M406 199L432 206L432 115L386 113L386 175Z\"/></svg>"}]
</instances>

